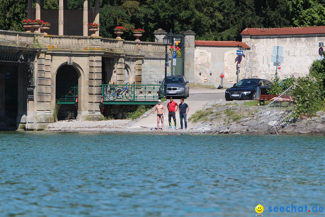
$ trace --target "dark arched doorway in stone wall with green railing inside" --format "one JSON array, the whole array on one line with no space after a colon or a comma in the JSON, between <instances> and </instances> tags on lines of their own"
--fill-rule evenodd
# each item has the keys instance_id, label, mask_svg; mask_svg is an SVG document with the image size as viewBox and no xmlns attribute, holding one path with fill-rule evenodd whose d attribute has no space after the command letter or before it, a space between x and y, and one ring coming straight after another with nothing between
<instances>
[{"instance_id":1,"label":"dark arched doorway in stone wall with green railing inside","mask_svg":"<svg viewBox=\"0 0 325 217\"><path fill-rule=\"evenodd\" d=\"M79 75L72 65L62 65L56 75L55 100L58 120L71 120L77 116Z\"/></svg>"}]
</instances>

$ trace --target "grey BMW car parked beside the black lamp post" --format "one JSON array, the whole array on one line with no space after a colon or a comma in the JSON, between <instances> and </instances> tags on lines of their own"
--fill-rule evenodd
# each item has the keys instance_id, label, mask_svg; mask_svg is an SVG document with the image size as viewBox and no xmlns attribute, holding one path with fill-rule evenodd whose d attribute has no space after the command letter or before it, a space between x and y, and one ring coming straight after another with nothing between
<instances>
[{"instance_id":1,"label":"grey BMW car parked beside the black lamp post","mask_svg":"<svg viewBox=\"0 0 325 217\"><path fill-rule=\"evenodd\" d=\"M159 81L160 84L164 84L163 81ZM163 87L162 87L163 88ZM167 76L167 96L168 97L179 97L179 98L188 98L189 96L189 85L188 81L184 76Z\"/></svg>"}]
</instances>

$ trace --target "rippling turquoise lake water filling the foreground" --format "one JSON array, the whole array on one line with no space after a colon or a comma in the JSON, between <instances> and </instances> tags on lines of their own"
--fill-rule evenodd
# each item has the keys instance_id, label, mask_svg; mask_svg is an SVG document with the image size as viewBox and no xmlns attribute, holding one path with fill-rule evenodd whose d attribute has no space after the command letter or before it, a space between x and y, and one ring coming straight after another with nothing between
<instances>
[{"instance_id":1,"label":"rippling turquoise lake water filling the foreground","mask_svg":"<svg viewBox=\"0 0 325 217\"><path fill-rule=\"evenodd\" d=\"M195 211L205 207L255 216L258 204L267 216L269 206L324 207L324 144L307 136L0 132L0 216L218 214Z\"/></svg>"}]
</instances>

